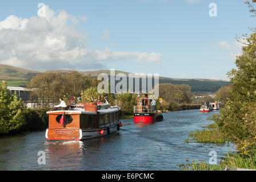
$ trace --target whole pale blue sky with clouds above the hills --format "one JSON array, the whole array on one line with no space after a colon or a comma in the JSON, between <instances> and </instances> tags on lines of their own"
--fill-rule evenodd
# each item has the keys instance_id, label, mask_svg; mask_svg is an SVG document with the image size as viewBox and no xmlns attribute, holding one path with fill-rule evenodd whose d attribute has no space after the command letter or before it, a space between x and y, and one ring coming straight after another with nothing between
<instances>
[{"instance_id":1,"label":"whole pale blue sky with clouds above the hills","mask_svg":"<svg viewBox=\"0 0 256 182\"><path fill-rule=\"evenodd\" d=\"M5 1L0 64L229 80L242 49L235 37L255 24L243 2Z\"/></svg>"}]
</instances>

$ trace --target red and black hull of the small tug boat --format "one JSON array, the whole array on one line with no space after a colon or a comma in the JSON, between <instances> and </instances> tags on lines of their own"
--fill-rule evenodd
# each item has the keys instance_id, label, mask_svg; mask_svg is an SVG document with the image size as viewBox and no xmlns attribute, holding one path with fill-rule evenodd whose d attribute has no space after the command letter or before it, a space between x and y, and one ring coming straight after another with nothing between
<instances>
[{"instance_id":1,"label":"red and black hull of the small tug boat","mask_svg":"<svg viewBox=\"0 0 256 182\"><path fill-rule=\"evenodd\" d=\"M155 123L158 121L163 121L162 114L148 114L148 113L136 113L134 114L134 123Z\"/></svg>"}]
</instances>

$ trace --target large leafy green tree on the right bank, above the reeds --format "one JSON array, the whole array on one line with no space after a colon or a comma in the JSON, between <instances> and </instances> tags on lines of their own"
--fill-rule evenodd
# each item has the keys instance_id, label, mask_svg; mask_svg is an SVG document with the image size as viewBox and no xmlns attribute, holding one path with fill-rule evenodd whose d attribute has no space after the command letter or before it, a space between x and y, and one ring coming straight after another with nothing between
<instances>
[{"instance_id":1,"label":"large leafy green tree on the right bank, above the reeds","mask_svg":"<svg viewBox=\"0 0 256 182\"><path fill-rule=\"evenodd\" d=\"M229 140L238 145L239 150L247 152L256 146L256 33L246 38L242 55L237 57L237 69L228 74L232 88L221 114L214 115L219 129ZM254 131L254 132L251 132ZM248 144L249 143L249 144Z\"/></svg>"}]
</instances>

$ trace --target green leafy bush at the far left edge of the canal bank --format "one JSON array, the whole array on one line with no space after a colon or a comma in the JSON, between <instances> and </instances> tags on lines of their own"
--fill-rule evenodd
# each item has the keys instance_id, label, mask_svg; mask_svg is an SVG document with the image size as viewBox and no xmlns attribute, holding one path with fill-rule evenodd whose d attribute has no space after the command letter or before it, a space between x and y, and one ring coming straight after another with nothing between
<instances>
[{"instance_id":1,"label":"green leafy bush at the far left edge of the canal bank","mask_svg":"<svg viewBox=\"0 0 256 182\"><path fill-rule=\"evenodd\" d=\"M25 121L25 106L17 94L11 94L7 84L0 85L0 134L18 130Z\"/></svg>"}]
</instances>

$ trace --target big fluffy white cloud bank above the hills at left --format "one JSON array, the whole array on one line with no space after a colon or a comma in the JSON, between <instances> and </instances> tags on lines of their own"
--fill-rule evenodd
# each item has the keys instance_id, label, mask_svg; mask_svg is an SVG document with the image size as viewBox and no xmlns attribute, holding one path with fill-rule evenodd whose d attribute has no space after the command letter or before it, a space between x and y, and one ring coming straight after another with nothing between
<instances>
[{"instance_id":1,"label":"big fluffy white cloud bank above the hills at left","mask_svg":"<svg viewBox=\"0 0 256 182\"><path fill-rule=\"evenodd\" d=\"M76 17L65 11L57 14L49 6L45 9L44 18L22 19L10 15L0 22L0 64L45 70L101 69L111 60L161 63L163 56L154 52L90 49L87 34L74 28L81 21L87 22L86 16ZM109 38L109 30L104 34Z\"/></svg>"}]
</instances>

